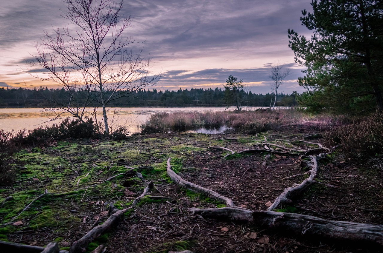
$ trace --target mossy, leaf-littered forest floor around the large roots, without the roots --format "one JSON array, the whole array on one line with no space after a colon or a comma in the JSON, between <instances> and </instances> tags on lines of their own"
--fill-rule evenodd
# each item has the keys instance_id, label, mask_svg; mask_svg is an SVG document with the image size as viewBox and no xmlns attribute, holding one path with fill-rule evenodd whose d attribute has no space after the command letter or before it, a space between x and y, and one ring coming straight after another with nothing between
<instances>
[{"instance_id":1,"label":"mossy, leaf-littered forest floor around the large roots, without the roots","mask_svg":"<svg viewBox=\"0 0 383 253\"><path fill-rule=\"evenodd\" d=\"M166 162L172 157L172 167L185 180L232 198L236 206L266 210L286 187L308 177L300 166L302 157L272 154L265 160L268 153L264 152L223 159L228 152L206 148L242 151L262 148L260 144L265 142L314 148L293 140L329 128L311 123L257 135L166 133L131 136L123 141L67 139L23 149L16 154L22 163L16 168L16 181L20 182L0 188L0 240L37 246L58 242L68 250L71 242L108 218L108 203L114 201L116 208L123 209L141 195L145 183L136 177L140 172L144 179L154 182L154 190L126 212L116 227L91 243L89 252L100 244L107 247L107 252L116 253L185 249L195 253L374 252L368 245L321 242L267 227L193 216L187 211L190 207L224 204L185 190L166 175ZM321 138L305 140L321 142ZM383 224L383 174L378 162L350 160L334 152L320 163L320 183L311 186L295 203L275 211ZM119 173L125 174L90 187ZM79 188L84 189L40 198L22 211L45 190L61 193ZM5 201L8 196L13 198Z\"/></svg>"}]
</instances>

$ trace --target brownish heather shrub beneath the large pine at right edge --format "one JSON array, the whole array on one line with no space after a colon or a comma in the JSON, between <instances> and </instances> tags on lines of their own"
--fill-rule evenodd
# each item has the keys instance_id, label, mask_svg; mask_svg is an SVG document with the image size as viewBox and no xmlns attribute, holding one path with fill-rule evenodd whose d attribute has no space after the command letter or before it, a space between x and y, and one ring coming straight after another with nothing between
<instances>
[{"instance_id":1,"label":"brownish heather shrub beneath the large pine at right edge","mask_svg":"<svg viewBox=\"0 0 383 253\"><path fill-rule=\"evenodd\" d=\"M325 144L356 157L373 157L383 154L383 113L376 112L327 132Z\"/></svg>"}]
</instances>

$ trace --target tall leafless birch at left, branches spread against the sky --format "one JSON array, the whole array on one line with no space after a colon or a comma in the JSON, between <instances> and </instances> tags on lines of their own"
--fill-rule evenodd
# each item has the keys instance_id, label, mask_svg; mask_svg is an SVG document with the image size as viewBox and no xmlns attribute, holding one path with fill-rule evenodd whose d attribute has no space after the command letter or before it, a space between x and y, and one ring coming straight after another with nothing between
<instances>
[{"instance_id":1,"label":"tall leafless birch at left, branches spread against the sky","mask_svg":"<svg viewBox=\"0 0 383 253\"><path fill-rule=\"evenodd\" d=\"M142 58L142 49L133 53L128 48L142 42L126 35L132 20L119 14L122 1L63 1L67 10L61 10L61 16L70 25L54 29L53 35L46 32L36 44L37 55L29 64L42 67L40 71L47 75L30 73L67 91L66 100L52 101L57 104L57 117L64 111L83 120L88 106L102 107L105 133L109 135L108 103L154 85L160 76L149 74L150 59Z\"/></svg>"}]
</instances>

